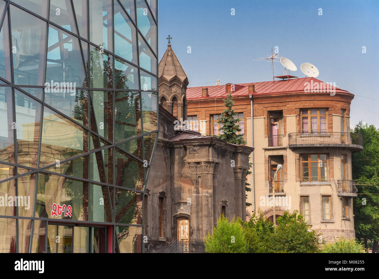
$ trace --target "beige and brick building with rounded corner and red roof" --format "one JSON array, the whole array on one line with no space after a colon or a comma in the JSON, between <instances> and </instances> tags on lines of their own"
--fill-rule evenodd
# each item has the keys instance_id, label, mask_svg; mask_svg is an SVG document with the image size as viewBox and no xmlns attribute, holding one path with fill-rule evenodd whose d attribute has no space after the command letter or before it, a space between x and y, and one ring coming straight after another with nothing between
<instances>
[{"instance_id":1,"label":"beige and brick building with rounded corner and red roof","mask_svg":"<svg viewBox=\"0 0 379 279\"><path fill-rule=\"evenodd\" d=\"M247 216L260 209L273 218L274 188L279 197L276 217L286 208L299 210L327 241L354 237L352 198L357 189L351 153L363 149L362 135L349 132L354 95L312 77L189 87L189 126L204 135L218 134L217 118L229 91L241 119L240 133L255 148ZM279 164L283 167L275 175Z\"/></svg>"}]
</instances>

